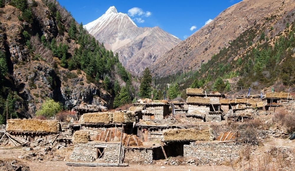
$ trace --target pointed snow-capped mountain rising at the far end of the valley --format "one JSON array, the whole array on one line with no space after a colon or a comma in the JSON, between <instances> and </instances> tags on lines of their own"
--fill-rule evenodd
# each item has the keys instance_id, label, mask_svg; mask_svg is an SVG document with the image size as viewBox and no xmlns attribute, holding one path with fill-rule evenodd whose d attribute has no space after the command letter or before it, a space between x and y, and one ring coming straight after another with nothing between
<instances>
[{"instance_id":1,"label":"pointed snow-capped mountain rising at the far end of the valley","mask_svg":"<svg viewBox=\"0 0 295 171\"><path fill-rule=\"evenodd\" d=\"M84 27L107 49L118 52L120 62L136 75L181 42L159 27L137 27L127 14L118 13L114 6Z\"/></svg>"}]
</instances>

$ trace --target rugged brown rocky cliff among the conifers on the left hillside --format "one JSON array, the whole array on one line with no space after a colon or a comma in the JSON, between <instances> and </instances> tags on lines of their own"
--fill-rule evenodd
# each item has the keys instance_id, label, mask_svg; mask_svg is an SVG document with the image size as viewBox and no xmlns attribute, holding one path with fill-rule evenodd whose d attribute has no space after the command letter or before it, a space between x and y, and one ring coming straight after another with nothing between
<instances>
[{"instance_id":1,"label":"rugged brown rocky cliff among the conifers on the left hillside","mask_svg":"<svg viewBox=\"0 0 295 171\"><path fill-rule=\"evenodd\" d=\"M19 116L33 117L48 98L59 101L69 109L82 101L103 101L97 100L101 96L105 100L112 98L102 86L87 81L83 71L60 67L60 60L53 57L51 50L37 40L40 39L37 34L44 35L48 41L56 38L57 43L69 44L69 54L73 54L73 49L77 47L67 32L59 34L58 24L50 9L42 1L36 1L38 6L32 7L35 16L33 23L20 21L18 16L22 13L14 6L6 4L0 8L0 50L6 55L9 69L6 81L0 87L15 92L20 98L15 106ZM69 24L67 20L71 21L70 15L67 12L60 15L63 15L65 25ZM24 31L31 35L29 42L33 50L26 44ZM37 51L41 57L34 59Z\"/></svg>"}]
</instances>

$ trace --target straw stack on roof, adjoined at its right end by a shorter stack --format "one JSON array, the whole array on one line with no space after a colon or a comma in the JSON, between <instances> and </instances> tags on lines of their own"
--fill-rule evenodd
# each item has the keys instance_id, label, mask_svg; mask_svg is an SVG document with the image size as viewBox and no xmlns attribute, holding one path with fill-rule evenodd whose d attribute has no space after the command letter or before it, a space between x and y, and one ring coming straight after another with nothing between
<instances>
[{"instance_id":1,"label":"straw stack on roof, adjoined at its right end by a shorter stack","mask_svg":"<svg viewBox=\"0 0 295 171\"><path fill-rule=\"evenodd\" d=\"M91 124L109 124L112 123L113 112L96 112L83 114L81 116L81 122Z\"/></svg>"}]
</instances>

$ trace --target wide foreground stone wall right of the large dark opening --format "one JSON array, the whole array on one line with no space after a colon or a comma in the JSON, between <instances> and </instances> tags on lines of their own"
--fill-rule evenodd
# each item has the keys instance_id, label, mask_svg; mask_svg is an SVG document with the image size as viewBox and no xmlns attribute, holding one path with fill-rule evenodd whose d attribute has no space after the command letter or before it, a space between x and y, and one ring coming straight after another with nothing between
<instances>
[{"instance_id":1,"label":"wide foreground stone wall right of the large dark opening","mask_svg":"<svg viewBox=\"0 0 295 171\"><path fill-rule=\"evenodd\" d=\"M191 142L183 145L183 157L194 157L197 165L216 165L230 161L230 156L232 160L237 159L244 148L244 144L236 143Z\"/></svg>"}]
</instances>

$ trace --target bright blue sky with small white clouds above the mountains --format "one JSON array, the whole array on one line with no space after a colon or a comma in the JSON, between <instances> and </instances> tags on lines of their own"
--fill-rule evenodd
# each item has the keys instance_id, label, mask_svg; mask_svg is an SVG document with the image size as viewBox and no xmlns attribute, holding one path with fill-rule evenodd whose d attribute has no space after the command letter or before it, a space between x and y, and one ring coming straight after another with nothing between
<instances>
[{"instance_id":1,"label":"bright blue sky with small white clouds above the mountains","mask_svg":"<svg viewBox=\"0 0 295 171\"><path fill-rule=\"evenodd\" d=\"M78 23L82 22L84 25L99 18L110 6L115 6L118 12L128 14L129 11L129 17L138 27L159 26L183 40L204 26L206 21L214 19L221 11L241 0L58 1L71 12Z\"/></svg>"}]
</instances>

